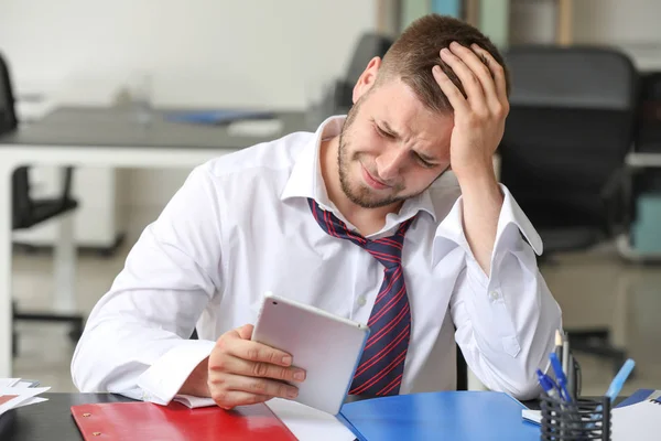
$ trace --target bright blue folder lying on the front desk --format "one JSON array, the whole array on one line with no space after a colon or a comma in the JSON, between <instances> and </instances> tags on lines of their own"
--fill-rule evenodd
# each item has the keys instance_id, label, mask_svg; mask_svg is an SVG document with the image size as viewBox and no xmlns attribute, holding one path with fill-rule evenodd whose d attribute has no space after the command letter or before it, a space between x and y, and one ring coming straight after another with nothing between
<instances>
[{"instance_id":1,"label":"bright blue folder lying on the front desk","mask_svg":"<svg viewBox=\"0 0 661 441\"><path fill-rule=\"evenodd\" d=\"M441 391L372 398L344 405L338 418L360 441L538 441L524 406L492 391Z\"/></svg>"}]
</instances>

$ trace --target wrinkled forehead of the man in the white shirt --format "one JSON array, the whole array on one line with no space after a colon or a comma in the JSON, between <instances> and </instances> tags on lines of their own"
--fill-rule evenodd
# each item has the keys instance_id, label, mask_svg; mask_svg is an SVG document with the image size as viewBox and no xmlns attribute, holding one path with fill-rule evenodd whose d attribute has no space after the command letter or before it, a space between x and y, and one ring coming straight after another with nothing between
<instances>
[{"instance_id":1,"label":"wrinkled forehead of the man in the white shirt","mask_svg":"<svg viewBox=\"0 0 661 441\"><path fill-rule=\"evenodd\" d=\"M429 109L401 79L382 83L369 94L365 106L368 118L386 122L404 140L445 147L454 127L452 114Z\"/></svg>"}]
</instances>

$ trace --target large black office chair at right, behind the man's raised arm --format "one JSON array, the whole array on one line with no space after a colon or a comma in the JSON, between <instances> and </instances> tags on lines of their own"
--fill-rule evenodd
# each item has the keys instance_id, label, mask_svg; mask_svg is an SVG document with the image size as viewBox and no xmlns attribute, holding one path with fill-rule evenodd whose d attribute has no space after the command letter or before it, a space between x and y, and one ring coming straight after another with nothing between
<instances>
[{"instance_id":1,"label":"large black office chair at right, behind the man's raised arm","mask_svg":"<svg viewBox=\"0 0 661 441\"><path fill-rule=\"evenodd\" d=\"M544 255L587 250L624 224L625 157L633 142L638 73L606 47L519 46L500 152L501 182L535 226ZM626 354L608 329L566 330L572 348L609 359Z\"/></svg>"}]
</instances>

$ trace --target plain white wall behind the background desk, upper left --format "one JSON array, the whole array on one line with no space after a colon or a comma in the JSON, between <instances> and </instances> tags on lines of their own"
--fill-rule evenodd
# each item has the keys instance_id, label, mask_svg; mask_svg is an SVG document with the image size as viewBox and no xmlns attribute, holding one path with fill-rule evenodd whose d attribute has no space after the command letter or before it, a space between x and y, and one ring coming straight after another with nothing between
<instances>
[{"instance_id":1,"label":"plain white wall behind the background desk, upper left","mask_svg":"<svg viewBox=\"0 0 661 441\"><path fill-rule=\"evenodd\" d=\"M109 104L136 72L156 105L302 107L340 75L368 0L0 0L0 51L21 92ZM161 207L187 171L136 171L130 207Z\"/></svg>"}]
</instances>

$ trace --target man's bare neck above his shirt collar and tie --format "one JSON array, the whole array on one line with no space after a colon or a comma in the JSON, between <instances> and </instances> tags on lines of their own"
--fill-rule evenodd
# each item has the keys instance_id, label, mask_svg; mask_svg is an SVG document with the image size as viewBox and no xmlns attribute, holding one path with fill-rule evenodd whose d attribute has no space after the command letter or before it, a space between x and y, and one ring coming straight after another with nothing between
<instances>
[{"instance_id":1,"label":"man's bare neck above his shirt collar and tie","mask_svg":"<svg viewBox=\"0 0 661 441\"><path fill-rule=\"evenodd\" d=\"M355 225L362 235L367 236L377 233L386 225L386 216L390 213L399 212L402 203L399 202L378 208L365 208L351 202L342 190L339 182L338 150L339 137L322 141L319 161L328 198L335 204L342 215Z\"/></svg>"}]
</instances>

